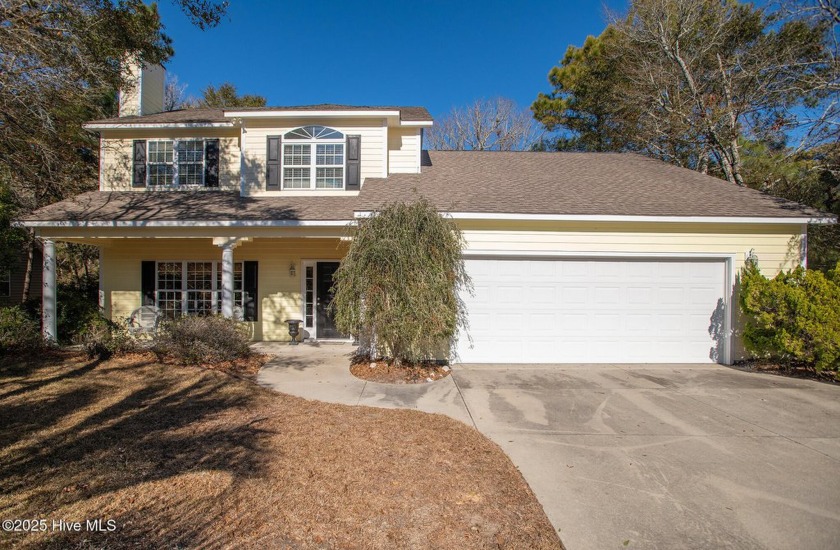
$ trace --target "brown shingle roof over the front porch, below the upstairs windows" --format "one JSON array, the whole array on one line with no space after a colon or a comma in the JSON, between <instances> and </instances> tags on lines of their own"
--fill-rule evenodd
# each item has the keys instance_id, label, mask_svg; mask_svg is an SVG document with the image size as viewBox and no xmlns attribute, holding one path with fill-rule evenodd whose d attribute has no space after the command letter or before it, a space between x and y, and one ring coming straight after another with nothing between
<instances>
[{"instance_id":1,"label":"brown shingle roof over the front porch, below the upstairs windows","mask_svg":"<svg viewBox=\"0 0 840 550\"><path fill-rule=\"evenodd\" d=\"M356 197L241 197L227 191L90 191L22 221L351 220Z\"/></svg>"}]
</instances>

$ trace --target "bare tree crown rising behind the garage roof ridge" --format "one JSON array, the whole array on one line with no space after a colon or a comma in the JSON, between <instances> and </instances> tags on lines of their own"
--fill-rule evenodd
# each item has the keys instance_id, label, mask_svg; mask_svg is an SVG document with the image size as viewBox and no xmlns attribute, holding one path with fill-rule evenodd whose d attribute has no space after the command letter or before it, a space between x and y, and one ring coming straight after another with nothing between
<instances>
[{"instance_id":1,"label":"bare tree crown rising behind the garage roof ridge","mask_svg":"<svg viewBox=\"0 0 840 550\"><path fill-rule=\"evenodd\" d=\"M443 151L522 151L530 149L541 135L530 111L497 97L453 108L424 138L429 149Z\"/></svg>"}]
</instances>

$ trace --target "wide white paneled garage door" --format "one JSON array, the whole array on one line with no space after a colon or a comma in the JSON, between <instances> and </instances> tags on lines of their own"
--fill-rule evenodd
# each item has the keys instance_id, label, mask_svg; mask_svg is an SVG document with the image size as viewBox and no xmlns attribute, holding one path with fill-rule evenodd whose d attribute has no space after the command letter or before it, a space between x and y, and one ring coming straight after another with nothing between
<instances>
[{"instance_id":1,"label":"wide white paneled garage door","mask_svg":"<svg viewBox=\"0 0 840 550\"><path fill-rule=\"evenodd\" d=\"M463 363L723 361L725 262L468 259Z\"/></svg>"}]
</instances>

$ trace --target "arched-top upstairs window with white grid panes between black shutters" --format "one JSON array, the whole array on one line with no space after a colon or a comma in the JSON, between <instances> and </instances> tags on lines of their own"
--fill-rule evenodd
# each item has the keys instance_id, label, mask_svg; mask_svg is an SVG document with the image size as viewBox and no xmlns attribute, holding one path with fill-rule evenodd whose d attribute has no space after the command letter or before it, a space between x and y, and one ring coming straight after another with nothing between
<instances>
[{"instance_id":1,"label":"arched-top upstairs window with white grid panes between black shutters","mask_svg":"<svg viewBox=\"0 0 840 550\"><path fill-rule=\"evenodd\" d=\"M283 136L283 189L342 189L344 134L303 126Z\"/></svg>"}]
</instances>

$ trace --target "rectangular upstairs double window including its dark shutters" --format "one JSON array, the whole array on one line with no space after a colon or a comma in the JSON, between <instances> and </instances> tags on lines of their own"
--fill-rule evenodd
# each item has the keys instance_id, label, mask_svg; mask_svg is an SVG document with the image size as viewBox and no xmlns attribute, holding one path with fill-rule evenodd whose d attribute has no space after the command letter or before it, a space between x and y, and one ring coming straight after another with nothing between
<instances>
[{"instance_id":1,"label":"rectangular upstairs double window including its dark shutters","mask_svg":"<svg viewBox=\"0 0 840 550\"><path fill-rule=\"evenodd\" d=\"M217 187L218 139L134 141L134 187Z\"/></svg>"}]
</instances>

